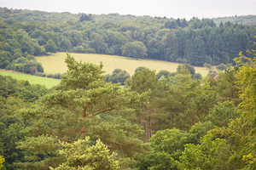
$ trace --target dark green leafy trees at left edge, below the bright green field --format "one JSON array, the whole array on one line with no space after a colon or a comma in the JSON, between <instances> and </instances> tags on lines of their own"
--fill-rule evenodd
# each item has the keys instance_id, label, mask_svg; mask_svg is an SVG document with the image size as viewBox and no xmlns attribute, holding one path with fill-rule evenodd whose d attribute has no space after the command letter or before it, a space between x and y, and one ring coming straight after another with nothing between
<instances>
[{"instance_id":1,"label":"dark green leafy trees at left edge, below the bright green field","mask_svg":"<svg viewBox=\"0 0 256 170\"><path fill-rule=\"evenodd\" d=\"M21 131L26 123L20 121L16 111L27 105L34 105L40 96L49 93L44 86L17 81L12 77L0 75L0 154L4 156L3 169L16 169L15 161L24 161L23 151L16 148L24 139Z\"/></svg>"}]
</instances>

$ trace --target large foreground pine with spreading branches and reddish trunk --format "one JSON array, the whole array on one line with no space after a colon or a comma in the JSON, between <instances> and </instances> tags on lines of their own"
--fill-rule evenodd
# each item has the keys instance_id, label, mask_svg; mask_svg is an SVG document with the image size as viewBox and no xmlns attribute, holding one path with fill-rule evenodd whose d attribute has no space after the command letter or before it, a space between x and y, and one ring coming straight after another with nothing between
<instances>
[{"instance_id":1,"label":"large foreground pine with spreading branches and reddish trunk","mask_svg":"<svg viewBox=\"0 0 256 170\"><path fill-rule=\"evenodd\" d=\"M138 155L145 150L143 141L139 139L143 131L115 116L117 112L125 111L127 106L138 101L137 93L120 88L117 84L104 82L102 65L77 62L69 54L66 63L67 75L62 77L55 90L45 95L37 108L20 111L24 120L33 120L32 126L26 128L26 134L34 136L35 141L47 134L67 142L75 142L90 135L92 140L102 139L120 157L139 159ZM30 150L27 148L28 142L26 139L20 143L20 149ZM46 147L44 142L38 144L43 144L38 146L40 148ZM44 156L44 161L34 160L20 163L19 166L53 167L53 164L61 163L55 161L61 159L56 156L57 148L46 148L49 148L50 155ZM40 153L31 150L26 158L29 156L38 157Z\"/></svg>"}]
</instances>

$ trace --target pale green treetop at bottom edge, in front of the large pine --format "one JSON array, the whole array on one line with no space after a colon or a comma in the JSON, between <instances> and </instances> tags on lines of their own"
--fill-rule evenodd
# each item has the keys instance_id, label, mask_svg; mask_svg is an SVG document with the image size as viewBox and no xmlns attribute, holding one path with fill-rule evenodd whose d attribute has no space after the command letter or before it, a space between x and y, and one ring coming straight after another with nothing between
<instances>
[{"instance_id":1,"label":"pale green treetop at bottom edge, in front of the large pine","mask_svg":"<svg viewBox=\"0 0 256 170\"><path fill-rule=\"evenodd\" d=\"M109 154L108 147L97 140L90 146L90 138L79 139L74 143L59 142L59 154L65 157L59 167L49 169L119 169L115 153Z\"/></svg>"}]
</instances>

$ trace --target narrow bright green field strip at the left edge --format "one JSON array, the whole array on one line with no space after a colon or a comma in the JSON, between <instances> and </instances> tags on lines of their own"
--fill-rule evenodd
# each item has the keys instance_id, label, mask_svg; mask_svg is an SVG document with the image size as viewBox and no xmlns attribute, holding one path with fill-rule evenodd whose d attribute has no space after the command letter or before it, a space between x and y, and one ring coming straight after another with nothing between
<instances>
[{"instance_id":1,"label":"narrow bright green field strip at the left edge","mask_svg":"<svg viewBox=\"0 0 256 170\"><path fill-rule=\"evenodd\" d=\"M37 77L28 74L22 73L15 73L9 71L0 71L0 74L3 76L11 76L17 80L27 80L31 84L42 84L45 85L46 88L52 88L53 86L57 85L61 80L53 79L53 78L45 78L45 77Z\"/></svg>"}]
</instances>

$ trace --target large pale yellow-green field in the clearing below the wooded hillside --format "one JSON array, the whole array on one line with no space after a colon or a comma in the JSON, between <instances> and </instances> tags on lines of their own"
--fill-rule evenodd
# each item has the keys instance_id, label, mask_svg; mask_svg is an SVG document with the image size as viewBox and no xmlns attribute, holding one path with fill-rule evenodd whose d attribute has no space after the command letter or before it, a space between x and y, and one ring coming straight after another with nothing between
<instances>
[{"instance_id":1,"label":"large pale yellow-green field in the clearing below the wooded hillside","mask_svg":"<svg viewBox=\"0 0 256 170\"><path fill-rule=\"evenodd\" d=\"M122 69L129 72L130 75L133 75L135 69L139 66L146 66L151 70L156 70L158 73L161 70L166 70L170 72L176 72L177 65L180 63L172 63L162 60L154 59L128 59L127 57L116 56L116 55L107 55L107 54L73 54L70 53L75 59L82 62L90 62L96 65L100 65L100 62L103 63L103 70L106 71L106 74L111 74L114 69ZM67 65L64 63L66 58L66 53L56 53L51 55L45 55L40 57L35 57L38 62L42 63L44 66L45 73L65 73L67 71ZM195 72L201 73L202 77L207 76L206 67L195 67Z\"/></svg>"}]
</instances>

